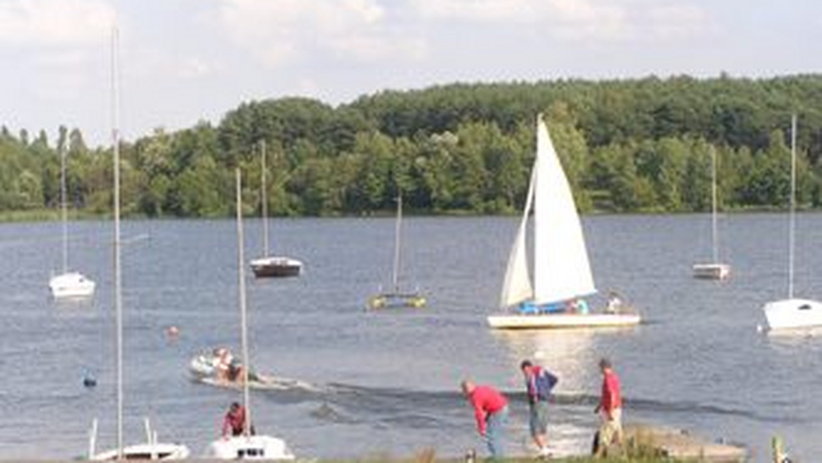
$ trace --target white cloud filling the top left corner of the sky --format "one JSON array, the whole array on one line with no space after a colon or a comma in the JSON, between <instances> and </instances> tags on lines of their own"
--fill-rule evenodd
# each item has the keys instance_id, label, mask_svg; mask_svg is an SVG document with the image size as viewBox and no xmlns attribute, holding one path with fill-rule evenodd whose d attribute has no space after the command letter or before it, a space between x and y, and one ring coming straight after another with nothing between
<instances>
[{"instance_id":1,"label":"white cloud filling the top left corner of the sky","mask_svg":"<svg viewBox=\"0 0 822 463\"><path fill-rule=\"evenodd\" d=\"M0 46L67 47L109 35L114 10L102 0L2 0Z\"/></svg>"}]
</instances>

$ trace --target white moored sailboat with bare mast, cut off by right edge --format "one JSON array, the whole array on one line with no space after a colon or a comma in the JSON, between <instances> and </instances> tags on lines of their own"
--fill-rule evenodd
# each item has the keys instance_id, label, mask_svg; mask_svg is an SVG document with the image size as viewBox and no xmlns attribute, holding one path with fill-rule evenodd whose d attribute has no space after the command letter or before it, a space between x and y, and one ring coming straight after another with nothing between
<instances>
[{"instance_id":1,"label":"white moored sailboat with bare mast, cut off by right edge","mask_svg":"<svg viewBox=\"0 0 822 463\"><path fill-rule=\"evenodd\" d=\"M791 118L791 206L788 212L787 299L766 303L767 331L791 330L822 326L822 303L793 297L793 262L796 248L797 191L797 116Z\"/></svg>"}]
</instances>

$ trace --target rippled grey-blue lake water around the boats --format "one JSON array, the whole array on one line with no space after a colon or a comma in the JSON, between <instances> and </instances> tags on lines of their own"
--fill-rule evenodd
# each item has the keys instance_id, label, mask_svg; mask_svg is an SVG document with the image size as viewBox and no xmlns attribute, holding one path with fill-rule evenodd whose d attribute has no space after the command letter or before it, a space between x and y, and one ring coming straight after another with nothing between
<instances>
[{"instance_id":1,"label":"rippled grey-blue lake water around the boats","mask_svg":"<svg viewBox=\"0 0 822 463\"><path fill-rule=\"evenodd\" d=\"M273 248L306 263L298 279L249 276L252 363L314 383L317 391L254 391L258 432L299 456L443 455L483 449L459 381L509 392L508 450L527 442L518 365L536 357L560 377L549 429L558 453L588 448L597 422L600 356L612 358L626 421L689 428L742 442L767 461L783 435L794 456L822 455L822 336L763 336L761 306L787 295L787 219L721 221L732 280L695 280L710 254L706 215L593 216L584 229L598 288L618 289L645 323L617 331L490 331L518 218L404 220L404 282L428 308L366 312L390 282L394 221L273 220ZM246 222L247 257L261 223ZM97 281L86 304L55 304L48 277L61 259L59 224L0 225L0 457L85 453L92 419L113 444L112 226L71 225L71 261ZM126 441L161 440L199 454L218 436L227 391L192 382L187 362L214 345L238 345L237 253L231 220L126 221L122 252ZM141 238L144 237L144 238ZM145 238L147 237L147 238ZM796 294L822 299L822 215L797 220ZM250 273L250 272L249 272ZM601 297L591 299L602 303ZM169 340L167 326L181 336ZM98 386L85 388L93 375ZM483 449L484 451L484 449Z\"/></svg>"}]
</instances>

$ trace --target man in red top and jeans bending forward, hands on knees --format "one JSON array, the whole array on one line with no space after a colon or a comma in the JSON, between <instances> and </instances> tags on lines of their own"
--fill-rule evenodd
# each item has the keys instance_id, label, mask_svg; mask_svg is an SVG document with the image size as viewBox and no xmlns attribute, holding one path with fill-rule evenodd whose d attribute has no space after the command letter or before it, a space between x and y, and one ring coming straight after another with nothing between
<instances>
[{"instance_id":1,"label":"man in red top and jeans bending forward, hands on knees","mask_svg":"<svg viewBox=\"0 0 822 463\"><path fill-rule=\"evenodd\" d=\"M504 454L502 434L508 417L508 400L493 387L480 386L468 379L461 383L461 387L463 395L473 406L477 432L485 441L491 459L501 459Z\"/></svg>"}]
</instances>

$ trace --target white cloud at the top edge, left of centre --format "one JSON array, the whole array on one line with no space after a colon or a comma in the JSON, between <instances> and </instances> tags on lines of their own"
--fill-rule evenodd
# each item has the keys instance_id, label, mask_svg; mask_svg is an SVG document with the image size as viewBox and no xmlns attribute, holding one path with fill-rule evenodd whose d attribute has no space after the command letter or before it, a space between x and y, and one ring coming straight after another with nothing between
<instances>
[{"instance_id":1,"label":"white cloud at the top edge, left of centre","mask_svg":"<svg viewBox=\"0 0 822 463\"><path fill-rule=\"evenodd\" d=\"M391 53L422 53L388 25L378 0L218 0L210 22L270 66L312 53L369 62Z\"/></svg>"}]
</instances>

